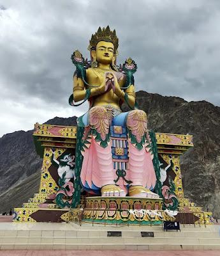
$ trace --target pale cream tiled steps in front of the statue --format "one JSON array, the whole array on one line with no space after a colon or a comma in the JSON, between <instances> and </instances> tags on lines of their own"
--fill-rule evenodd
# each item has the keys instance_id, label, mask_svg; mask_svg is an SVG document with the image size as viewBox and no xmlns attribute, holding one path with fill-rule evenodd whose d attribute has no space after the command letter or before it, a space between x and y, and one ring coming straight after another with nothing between
<instances>
[{"instance_id":1,"label":"pale cream tiled steps in front of the statue","mask_svg":"<svg viewBox=\"0 0 220 256\"><path fill-rule=\"evenodd\" d=\"M219 250L219 225L185 225L181 232L163 227L104 226L83 223L0 223L1 250ZM121 237L108 237L121 231ZM154 232L142 237L141 232ZM8 255L8 254L6 254Z\"/></svg>"}]
</instances>

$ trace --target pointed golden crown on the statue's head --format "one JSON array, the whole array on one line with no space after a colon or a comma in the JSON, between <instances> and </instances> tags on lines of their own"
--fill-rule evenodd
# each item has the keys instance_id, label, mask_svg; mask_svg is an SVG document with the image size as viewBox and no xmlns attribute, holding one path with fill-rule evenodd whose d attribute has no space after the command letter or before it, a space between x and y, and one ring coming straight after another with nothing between
<instances>
[{"instance_id":1,"label":"pointed golden crown on the statue's head","mask_svg":"<svg viewBox=\"0 0 220 256\"><path fill-rule=\"evenodd\" d=\"M106 26L106 28L103 29L99 27L98 31L92 35L91 40L89 41L89 51L96 49L96 45L99 41L112 42L115 47L115 52L117 51L117 47L119 47L119 38L116 36L115 29L114 31L111 31L109 26Z\"/></svg>"}]
</instances>

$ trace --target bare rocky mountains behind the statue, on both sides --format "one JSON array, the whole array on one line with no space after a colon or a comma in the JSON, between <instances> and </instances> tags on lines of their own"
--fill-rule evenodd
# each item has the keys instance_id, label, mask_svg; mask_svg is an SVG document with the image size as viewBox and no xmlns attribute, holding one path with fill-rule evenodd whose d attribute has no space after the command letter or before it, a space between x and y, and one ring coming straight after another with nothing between
<instances>
[{"instance_id":1,"label":"bare rocky mountains behind the statue, on both sides","mask_svg":"<svg viewBox=\"0 0 220 256\"><path fill-rule=\"evenodd\" d=\"M220 108L204 100L187 102L143 91L136 99L147 113L149 129L193 135L194 147L180 158L184 195L220 218ZM46 124L76 125L76 117L55 117ZM21 206L38 192L41 159L32 133L17 131L0 138L0 212Z\"/></svg>"}]
</instances>

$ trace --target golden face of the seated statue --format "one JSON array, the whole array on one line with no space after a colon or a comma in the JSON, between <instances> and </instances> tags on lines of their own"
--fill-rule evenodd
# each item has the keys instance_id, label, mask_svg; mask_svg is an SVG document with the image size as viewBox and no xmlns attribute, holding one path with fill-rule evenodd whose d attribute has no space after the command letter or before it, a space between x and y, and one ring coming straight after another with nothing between
<instances>
[{"instance_id":1,"label":"golden face of the seated statue","mask_svg":"<svg viewBox=\"0 0 220 256\"><path fill-rule=\"evenodd\" d=\"M114 44L100 41L96 45L96 60L99 63L110 64L114 58Z\"/></svg>"}]
</instances>

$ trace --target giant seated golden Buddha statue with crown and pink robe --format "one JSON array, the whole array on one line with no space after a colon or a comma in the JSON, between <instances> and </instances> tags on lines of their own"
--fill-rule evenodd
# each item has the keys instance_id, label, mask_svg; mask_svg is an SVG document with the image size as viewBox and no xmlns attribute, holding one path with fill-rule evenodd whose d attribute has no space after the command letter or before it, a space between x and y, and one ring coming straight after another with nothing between
<instances>
[{"instance_id":1,"label":"giant seated golden Buddha statue with crown and pink robe","mask_svg":"<svg viewBox=\"0 0 220 256\"><path fill-rule=\"evenodd\" d=\"M121 72L115 61L118 38L115 30L99 28L89 45L91 65L75 51L73 100L89 100L89 111L78 118L84 127L80 181L89 193L101 196L158 198L152 192L156 174L152 163L147 115L135 108L133 73L129 58ZM123 113L122 102L134 110ZM127 158L126 158L127 157Z\"/></svg>"}]
</instances>

